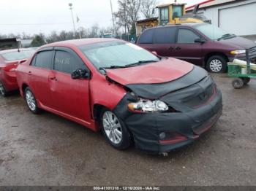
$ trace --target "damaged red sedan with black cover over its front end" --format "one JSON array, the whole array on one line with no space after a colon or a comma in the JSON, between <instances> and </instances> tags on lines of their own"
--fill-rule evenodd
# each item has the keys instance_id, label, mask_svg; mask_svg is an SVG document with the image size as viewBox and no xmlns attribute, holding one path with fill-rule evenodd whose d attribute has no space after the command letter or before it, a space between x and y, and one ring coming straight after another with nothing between
<instances>
[{"instance_id":1,"label":"damaged red sedan with black cover over its front end","mask_svg":"<svg viewBox=\"0 0 256 191\"><path fill-rule=\"evenodd\" d=\"M211 128L222 95L208 73L118 39L79 39L40 47L17 69L20 94L40 109L103 131L117 149L163 153Z\"/></svg>"}]
</instances>

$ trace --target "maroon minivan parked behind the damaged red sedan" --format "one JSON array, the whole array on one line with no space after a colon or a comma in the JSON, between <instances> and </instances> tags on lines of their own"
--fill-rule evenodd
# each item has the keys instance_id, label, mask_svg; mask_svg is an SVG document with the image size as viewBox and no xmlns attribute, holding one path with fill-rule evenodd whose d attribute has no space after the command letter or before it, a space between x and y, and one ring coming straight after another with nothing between
<instances>
[{"instance_id":1,"label":"maroon minivan parked behind the damaged red sedan","mask_svg":"<svg viewBox=\"0 0 256 191\"><path fill-rule=\"evenodd\" d=\"M221 73L234 58L246 61L246 49L256 61L256 43L208 23L184 23L148 28L137 44L160 56L178 58Z\"/></svg>"}]
</instances>

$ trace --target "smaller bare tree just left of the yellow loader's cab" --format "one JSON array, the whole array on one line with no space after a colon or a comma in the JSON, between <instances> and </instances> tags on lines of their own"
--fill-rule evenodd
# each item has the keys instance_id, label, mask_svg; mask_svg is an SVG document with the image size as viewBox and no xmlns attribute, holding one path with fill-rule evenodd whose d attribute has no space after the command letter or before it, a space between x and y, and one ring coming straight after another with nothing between
<instances>
[{"instance_id":1,"label":"smaller bare tree just left of the yellow loader's cab","mask_svg":"<svg viewBox=\"0 0 256 191\"><path fill-rule=\"evenodd\" d=\"M156 4L156 0L143 0L141 2L140 12L145 18L154 17L156 15L154 11L156 8Z\"/></svg>"}]
</instances>

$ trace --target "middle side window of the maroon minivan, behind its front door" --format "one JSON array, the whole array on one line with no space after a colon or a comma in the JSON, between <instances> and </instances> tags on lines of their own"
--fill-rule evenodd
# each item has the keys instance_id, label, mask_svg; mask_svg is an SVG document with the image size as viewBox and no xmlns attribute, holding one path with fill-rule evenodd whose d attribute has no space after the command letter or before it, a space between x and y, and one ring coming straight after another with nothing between
<instances>
[{"instance_id":1,"label":"middle side window of the maroon minivan, behind its front door","mask_svg":"<svg viewBox=\"0 0 256 191\"><path fill-rule=\"evenodd\" d=\"M154 44L172 44L175 42L176 27L160 27L154 32Z\"/></svg>"}]
</instances>

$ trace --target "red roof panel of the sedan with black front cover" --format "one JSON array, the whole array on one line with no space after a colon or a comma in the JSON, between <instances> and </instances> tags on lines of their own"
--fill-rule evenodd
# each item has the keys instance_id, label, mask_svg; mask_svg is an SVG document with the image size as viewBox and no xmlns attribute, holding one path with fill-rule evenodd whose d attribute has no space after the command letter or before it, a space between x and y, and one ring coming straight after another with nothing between
<instances>
[{"instance_id":1,"label":"red roof panel of the sedan with black front cover","mask_svg":"<svg viewBox=\"0 0 256 191\"><path fill-rule=\"evenodd\" d=\"M61 41L61 42L53 42L50 44L46 44L43 47L58 47L58 46L67 46L67 45L73 45L76 47L83 46L86 44L94 44L99 42L110 42L110 41L121 41L119 39L105 39L105 38L89 38L89 39L73 39L73 40L67 40L67 41Z\"/></svg>"}]
</instances>

